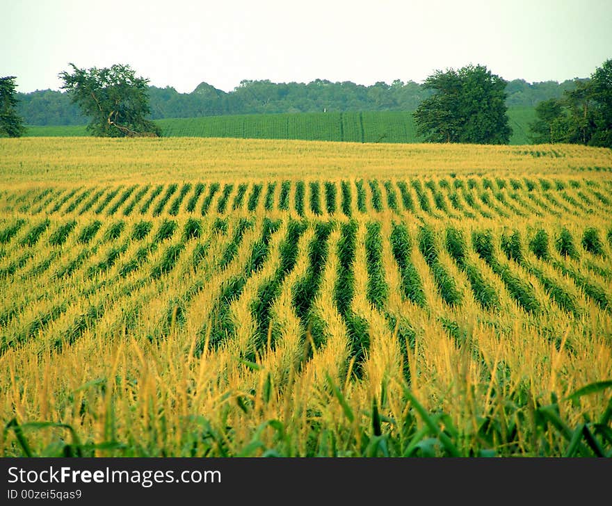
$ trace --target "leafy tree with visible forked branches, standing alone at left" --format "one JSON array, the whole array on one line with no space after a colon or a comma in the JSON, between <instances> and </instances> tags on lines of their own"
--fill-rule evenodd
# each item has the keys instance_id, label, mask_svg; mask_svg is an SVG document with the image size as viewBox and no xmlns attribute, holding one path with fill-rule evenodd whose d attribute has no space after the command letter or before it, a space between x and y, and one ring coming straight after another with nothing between
<instances>
[{"instance_id":1,"label":"leafy tree with visible forked branches, standing alone at left","mask_svg":"<svg viewBox=\"0 0 612 506\"><path fill-rule=\"evenodd\" d=\"M90 117L88 130L101 137L159 136L161 129L147 119L151 109L148 79L137 77L129 65L61 72L63 89L83 114Z\"/></svg>"}]
</instances>

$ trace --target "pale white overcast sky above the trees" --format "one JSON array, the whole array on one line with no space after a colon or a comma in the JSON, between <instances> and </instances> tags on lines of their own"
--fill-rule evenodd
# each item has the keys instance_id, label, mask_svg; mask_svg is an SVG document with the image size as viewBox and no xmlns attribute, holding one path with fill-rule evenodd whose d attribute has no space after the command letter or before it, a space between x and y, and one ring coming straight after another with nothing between
<instances>
[{"instance_id":1,"label":"pale white overcast sky above the trees","mask_svg":"<svg viewBox=\"0 0 612 506\"><path fill-rule=\"evenodd\" d=\"M370 85L486 65L504 79L590 76L612 58L612 0L0 0L0 76L127 63L191 92L243 79Z\"/></svg>"}]
</instances>

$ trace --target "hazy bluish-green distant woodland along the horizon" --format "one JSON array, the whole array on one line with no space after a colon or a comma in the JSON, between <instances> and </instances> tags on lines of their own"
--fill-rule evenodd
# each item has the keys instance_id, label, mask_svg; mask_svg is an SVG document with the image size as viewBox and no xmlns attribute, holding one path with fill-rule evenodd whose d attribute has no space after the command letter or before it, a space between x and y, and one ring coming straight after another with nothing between
<instances>
[{"instance_id":1,"label":"hazy bluish-green distant woodland along the horizon","mask_svg":"<svg viewBox=\"0 0 612 506\"><path fill-rule=\"evenodd\" d=\"M506 105L536 106L540 101L561 98L575 88L572 81L527 83L515 79L506 84ZM317 79L310 83L242 81L231 92L200 83L191 93L170 86L147 86L151 119L262 113L319 113L323 111L414 111L431 90L414 81L360 85L351 81ZM26 124L86 124L87 116L66 92L39 90L17 93L17 112Z\"/></svg>"}]
</instances>

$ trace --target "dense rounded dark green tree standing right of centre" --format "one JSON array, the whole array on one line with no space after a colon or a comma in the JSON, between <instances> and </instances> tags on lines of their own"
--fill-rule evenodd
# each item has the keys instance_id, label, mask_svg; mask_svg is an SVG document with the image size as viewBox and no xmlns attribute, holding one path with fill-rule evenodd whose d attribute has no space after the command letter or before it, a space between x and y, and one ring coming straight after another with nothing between
<instances>
[{"instance_id":1,"label":"dense rounded dark green tree standing right of centre","mask_svg":"<svg viewBox=\"0 0 612 506\"><path fill-rule=\"evenodd\" d=\"M414 111L417 133L429 142L507 144L506 84L483 65L437 70L424 83L433 95Z\"/></svg>"}]
</instances>

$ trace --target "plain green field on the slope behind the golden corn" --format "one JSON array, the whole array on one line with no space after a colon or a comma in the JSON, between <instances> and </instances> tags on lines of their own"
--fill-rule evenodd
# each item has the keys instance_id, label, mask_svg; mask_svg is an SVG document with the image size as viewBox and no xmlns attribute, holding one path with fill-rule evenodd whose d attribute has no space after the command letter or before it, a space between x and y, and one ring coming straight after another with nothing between
<instances>
[{"instance_id":1,"label":"plain green field on the slope behind the golden corn","mask_svg":"<svg viewBox=\"0 0 612 506\"><path fill-rule=\"evenodd\" d=\"M533 107L508 110L511 145L529 144ZM156 121L165 137L232 137L344 142L420 142L411 112L260 114ZM85 126L29 126L26 136L86 136Z\"/></svg>"}]
</instances>

